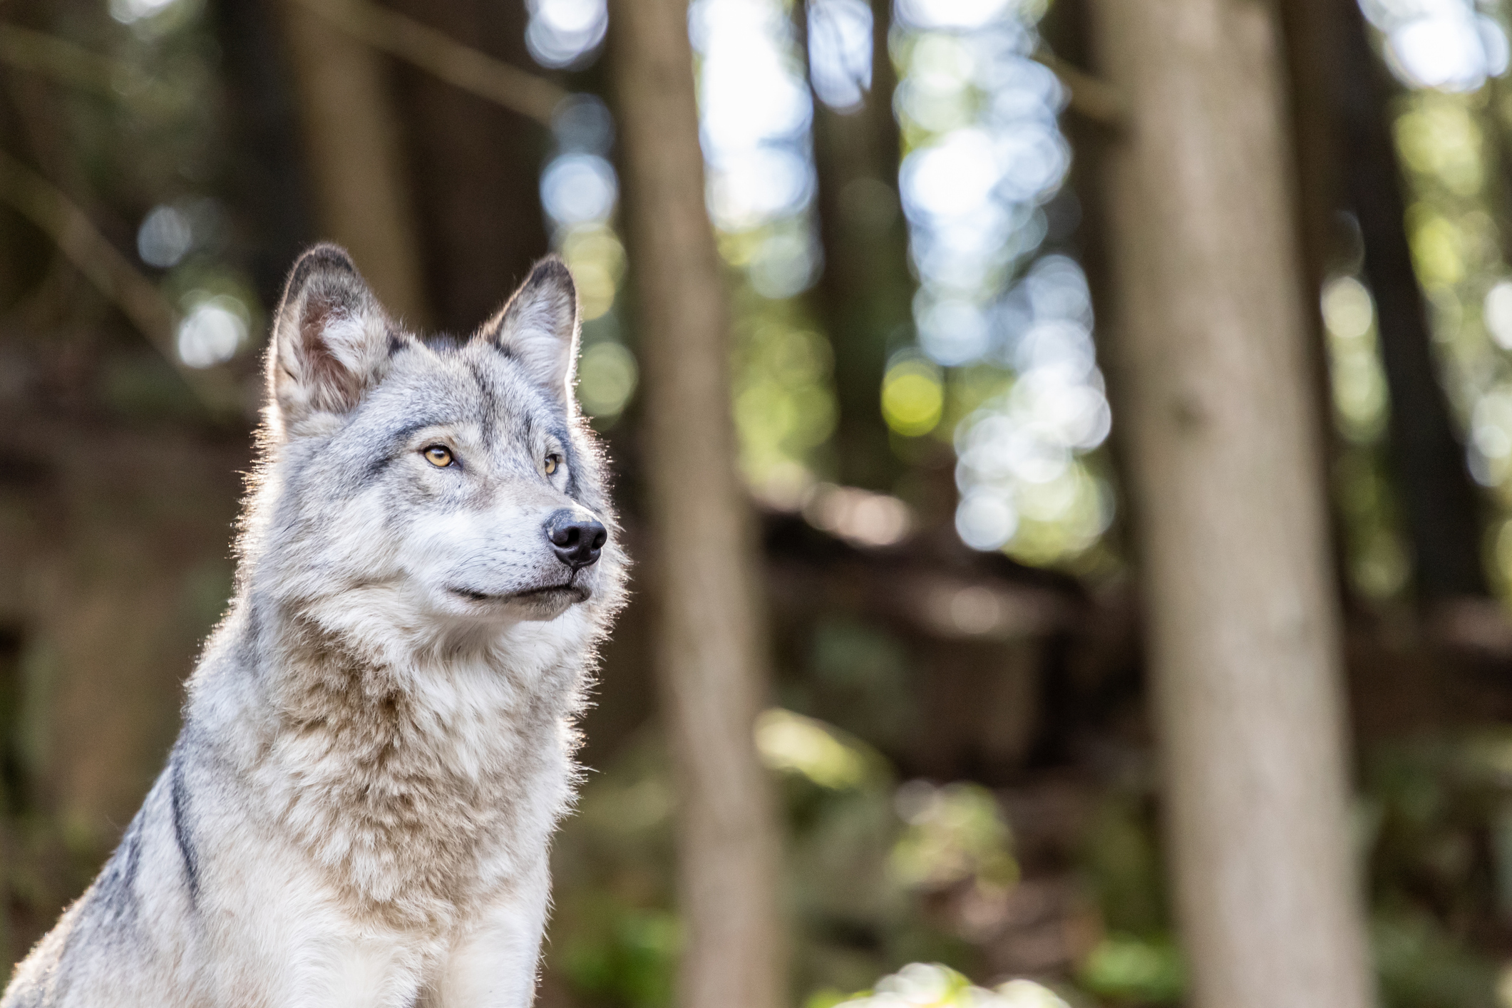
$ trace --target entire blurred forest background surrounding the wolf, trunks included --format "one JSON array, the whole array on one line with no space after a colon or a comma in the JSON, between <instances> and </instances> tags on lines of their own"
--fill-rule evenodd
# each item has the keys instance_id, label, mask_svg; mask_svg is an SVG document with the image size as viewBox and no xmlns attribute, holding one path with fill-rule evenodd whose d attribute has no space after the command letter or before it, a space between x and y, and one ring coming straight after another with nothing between
<instances>
[{"instance_id":1,"label":"entire blurred forest background surrounding the wolf, trunks included","mask_svg":"<svg viewBox=\"0 0 1512 1008\"><path fill-rule=\"evenodd\" d=\"M428 329L578 283L641 564L543 1005L1512 1008L1507 17L5 0L0 951L162 765L327 237Z\"/></svg>"}]
</instances>

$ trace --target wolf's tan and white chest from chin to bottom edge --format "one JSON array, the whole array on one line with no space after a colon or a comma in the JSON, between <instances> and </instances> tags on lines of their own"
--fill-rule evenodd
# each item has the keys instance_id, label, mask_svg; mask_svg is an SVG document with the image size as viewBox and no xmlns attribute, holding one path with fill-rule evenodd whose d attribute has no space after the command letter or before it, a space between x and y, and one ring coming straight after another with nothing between
<instances>
[{"instance_id":1,"label":"wolf's tan and white chest from chin to bottom edge","mask_svg":"<svg viewBox=\"0 0 1512 1008\"><path fill-rule=\"evenodd\" d=\"M237 913L262 948L227 951L240 966L215 987L243 970L266 985L278 964L274 1003L529 1000L549 836L572 796L582 653L579 618L564 621L408 663L301 648L236 731L262 828L248 870L210 858L206 887L228 913L268 911Z\"/></svg>"}]
</instances>

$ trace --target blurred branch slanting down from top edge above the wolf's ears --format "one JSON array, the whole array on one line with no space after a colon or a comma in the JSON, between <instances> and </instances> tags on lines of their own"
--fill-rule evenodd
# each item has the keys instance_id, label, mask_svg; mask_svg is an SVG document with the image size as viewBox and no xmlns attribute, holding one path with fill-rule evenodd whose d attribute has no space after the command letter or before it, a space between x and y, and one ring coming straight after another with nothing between
<instances>
[{"instance_id":1,"label":"blurred branch slanting down from top edge above the wolf's ears","mask_svg":"<svg viewBox=\"0 0 1512 1008\"><path fill-rule=\"evenodd\" d=\"M567 89L367 0L296 0L343 32L479 98L550 125Z\"/></svg>"}]
</instances>

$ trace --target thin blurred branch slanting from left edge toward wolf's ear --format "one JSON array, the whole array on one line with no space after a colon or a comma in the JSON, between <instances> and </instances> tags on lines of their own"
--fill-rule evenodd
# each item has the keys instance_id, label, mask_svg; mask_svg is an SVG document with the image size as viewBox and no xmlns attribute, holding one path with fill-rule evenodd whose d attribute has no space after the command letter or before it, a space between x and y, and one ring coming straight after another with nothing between
<instances>
[{"instance_id":1,"label":"thin blurred branch slanting from left edge toward wolf's ear","mask_svg":"<svg viewBox=\"0 0 1512 1008\"><path fill-rule=\"evenodd\" d=\"M178 314L157 287L100 234L88 215L60 189L0 151L0 199L41 228L59 251L100 289L177 370L216 417L236 411L236 388L221 372L195 370L178 360Z\"/></svg>"}]
</instances>

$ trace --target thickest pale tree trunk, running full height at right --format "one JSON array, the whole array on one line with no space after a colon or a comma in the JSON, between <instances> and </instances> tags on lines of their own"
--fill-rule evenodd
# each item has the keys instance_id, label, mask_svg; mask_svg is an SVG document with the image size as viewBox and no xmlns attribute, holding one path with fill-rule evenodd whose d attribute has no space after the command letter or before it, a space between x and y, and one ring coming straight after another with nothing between
<instances>
[{"instance_id":1,"label":"thickest pale tree trunk, running full height at right","mask_svg":"<svg viewBox=\"0 0 1512 1008\"><path fill-rule=\"evenodd\" d=\"M1275 8L1093 0L1114 370L1198 1008L1373 1003Z\"/></svg>"}]
</instances>

